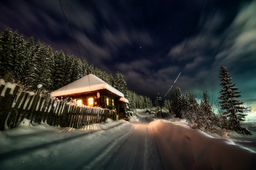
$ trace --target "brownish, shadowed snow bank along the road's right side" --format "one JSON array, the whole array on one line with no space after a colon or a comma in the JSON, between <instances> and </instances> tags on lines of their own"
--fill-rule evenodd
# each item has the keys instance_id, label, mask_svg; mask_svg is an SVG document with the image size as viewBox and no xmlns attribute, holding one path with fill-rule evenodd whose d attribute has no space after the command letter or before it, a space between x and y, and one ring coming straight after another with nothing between
<instances>
[{"instance_id":1,"label":"brownish, shadowed snow bank along the road's right side","mask_svg":"<svg viewBox=\"0 0 256 170\"><path fill-rule=\"evenodd\" d=\"M255 169L256 152L167 120L149 124L164 169Z\"/></svg>"}]
</instances>

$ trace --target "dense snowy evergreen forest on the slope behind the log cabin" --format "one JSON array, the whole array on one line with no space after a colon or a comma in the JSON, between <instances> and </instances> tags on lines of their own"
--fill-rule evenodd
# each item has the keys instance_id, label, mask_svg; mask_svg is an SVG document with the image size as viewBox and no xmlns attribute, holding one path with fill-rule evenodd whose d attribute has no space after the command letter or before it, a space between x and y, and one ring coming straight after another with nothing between
<instances>
[{"instance_id":1,"label":"dense snowy evergreen forest on the slope behind the log cabin","mask_svg":"<svg viewBox=\"0 0 256 170\"><path fill-rule=\"evenodd\" d=\"M130 103L131 110L152 108L152 102L147 96L137 95L126 88L124 76L117 72L115 78L106 71L90 66L86 60L81 60L73 54L64 51L52 52L52 47L44 43L35 45L34 38L23 39L18 30L12 32L7 28L0 35L0 78L17 83L22 90L36 91L42 84L44 93L52 92L87 74L94 74L110 86L124 94Z\"/></svg>"}]
</instances>

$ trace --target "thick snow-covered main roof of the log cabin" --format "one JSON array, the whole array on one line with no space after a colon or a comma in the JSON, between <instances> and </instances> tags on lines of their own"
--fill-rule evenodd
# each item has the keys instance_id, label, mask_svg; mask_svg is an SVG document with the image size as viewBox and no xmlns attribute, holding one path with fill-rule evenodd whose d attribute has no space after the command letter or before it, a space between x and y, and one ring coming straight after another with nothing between
<instances>
[{"instance_id":1,"label":"thick snow-covered main roof of the log cabin","mask_svg":"<svg viewBox=\"0 0 256 170\"><path fill-rule=\"evenodd\" d=\"M105 81L101 80L99 77L88 74L60 89L53 91L52 96L64 96L76 93L90 92L100 89L107 89L118 96L124 97L124 94L117 89L110 86Z\"/></svg>"}]
</instances>

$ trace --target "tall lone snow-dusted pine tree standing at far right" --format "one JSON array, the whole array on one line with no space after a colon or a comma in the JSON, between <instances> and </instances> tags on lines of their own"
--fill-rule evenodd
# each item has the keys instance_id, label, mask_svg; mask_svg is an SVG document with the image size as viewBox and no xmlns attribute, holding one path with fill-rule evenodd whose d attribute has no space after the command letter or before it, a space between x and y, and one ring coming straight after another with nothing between
<instances>
[{"instance_id":1,"label":"tall lone snow-dusted pine tree standing at far right","mask_svg":"<svg viewBox=\"0 0 256 170\"><path fill-rule=\"evenodd\" d=\"M243 121L247 115L237 114L238 112L243 113L244 108L240 106L243 103L234 98L242 95L237 95L240 91L235 91L238 88L234 87L235 84L232 84L232 78L228 75L227 67L224 67L223 64L220 67L219 77L222 81L220 85L223 86L223 89L220 91L222 96L219 97L221 100L219 103L221 104L221 109L224 110L223 116L227 119L227 128L240 134L252 135L250 131L243 128L240 124L240 121Z\"/></svg>"}]
</instances>

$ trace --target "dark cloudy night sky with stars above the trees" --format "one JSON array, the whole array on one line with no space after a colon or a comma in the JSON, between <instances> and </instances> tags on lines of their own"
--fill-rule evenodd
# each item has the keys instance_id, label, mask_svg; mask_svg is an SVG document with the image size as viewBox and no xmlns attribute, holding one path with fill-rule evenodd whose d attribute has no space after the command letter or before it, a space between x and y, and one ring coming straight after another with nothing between
<instances>
[{"instance_id":1,"label":"dark cloudy night sky with stars above the trees","mask_svg":"<svg viewBox=\"0 0 256 170\"><path fill-rule=\"evenodd\" d=\"M203 0L68 1L62 8L82 60L115 76L129 90L155 100L170 89L208 24L219 0L207 0L171 77ZM0 2L0 32L18 29L52 49L79 57L59 0ZM195 52L174 84L183 93L209 90L220 96L220 64L241 98L256 98L256 1L221 1ZM165 89L164 86L167 83ZM169 93L170 94L170 93ZM170 98L169 94L166 98ZM164 95L163 95L164 96ZM163 97L162 96L162 97Z\"/></svg>"}]
</instances>

